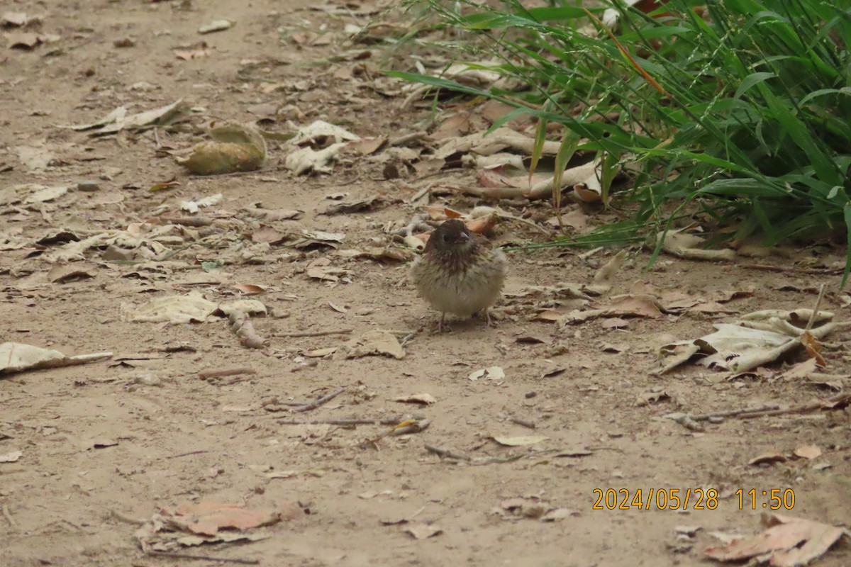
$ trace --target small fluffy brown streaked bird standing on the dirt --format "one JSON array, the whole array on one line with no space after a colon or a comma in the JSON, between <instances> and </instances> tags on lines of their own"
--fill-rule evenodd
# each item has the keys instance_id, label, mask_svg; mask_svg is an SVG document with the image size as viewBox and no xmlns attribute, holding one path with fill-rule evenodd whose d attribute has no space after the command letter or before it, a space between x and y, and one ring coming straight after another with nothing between
<instances>
[{"instance_id":1,"label":"small fluffy brown streaked bird standing on the dirt","mask_svg":"<svg viewBox=\"0 0 851 567\"><path fill-rule=\"evenodd\" d=\"M440 311L437 332L446 314L470 317L500 298L508 259L473 235L464 221L450 218L437 226L419 258L411 264L411 280L431 307ZM488 326L490 315L487 314Z\"/></svg>"}]
</instances>

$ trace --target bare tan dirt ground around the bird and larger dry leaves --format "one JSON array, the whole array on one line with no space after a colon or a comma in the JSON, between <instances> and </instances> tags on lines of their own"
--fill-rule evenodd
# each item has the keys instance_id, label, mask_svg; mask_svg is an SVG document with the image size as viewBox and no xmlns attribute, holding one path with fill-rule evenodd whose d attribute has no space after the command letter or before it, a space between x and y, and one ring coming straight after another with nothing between
<instances>
[{"instance_id":1,"label":"bare tan dirt ground around the bird and larger dry leaves","mask_svg":"<svg viewBox=\"0 0 851 567\"><path fill-rule=\"evenodd\" d=\"M386 179L393 176L380 161L349 156L330 173L294 176L283 167L283 142L271 141L263 171L192 177L165 150L203 139L194 133L160 128L97 138L61 128L94 122L122 105L133 113L185 99L197 110L198 125L262 117L262 128L280 132L317 119L360 136L433 131L439 121L430 122L431 100L405 105L404 94L386 92L394 83L377 74L386 63L381 57L389 56L383 48L372 47L374 60L346 56L347 49L365 46L346 43L345 26L376 18L373 4L27 0L4 9L41 16L37 33L60 38L0 53L0 190L20 184L70 190L51 201L0 207L0 342L113 356L0 379L0 456L22 452L0 462L0 564L190 564L146 555L134 537L136 522L186 502L260 510L289 503L297 513L253 530L265 539L175 550L264 565L707 564L705 547L722 545L712 532L752 536L761 530L762 503L768 502L761 493L771 489L794 491L789 515L851 525L848 410L725 419L706 423L702 432L665 417L788 406L835 391L781 377L777 365L734 378L695 366L651 373L661 344L699 337L711 332L712 322L737 314L812 306L821 283L831 289L824 307L845 320L837 275L670 257L645 271L647 252L631 249L613 290L586 307L605 304L636 281L694 298L753 292L724 303L728 313L559 325L535 314L541 307L567 312L580 304L557 296L554 286L591 283L615 251L585 257L584 250L511 252L506 298L494 309L497 325L453 320L452 332L438 335L432 330L437 315L406 280L407 262L297 248L292 237L258 253L252 235L260 222L244 208L303 211L300 218L264 222L282 235L324 230L345 233L340 250L384 246L386 229L421 211L421 201L419 208L408 204L418 190L475 184L471 169ZM198 35L199 26L220 19L236 26ZM119 47L123 39L131 44ZM209 54L175 57L175 48L200 40ZM397 61L400 69L411 65ZM179 185L149 190L175 175ZM89 180L97 186L78 188ZM158 261L115 261L106 247L94 247L77 263L91 277L53 281L51 254L66 240L37 245L57 229L85 238L139 228L157 216L186 215L178 212L182 201L217 193L223 199L208 213L216 223L173 226L158 247L145 245ZM363 212L320 214L337 193L346 193L346 201L380 193L385 201ZM477 205L458 193L432 202L461 211ZM542 225L552 214L546 203L504 206ZM517 222L494 232L498 243L545 240ZM791 266L806 256L809 266L830 266L843 253L808 248L775 262ZM346 273L338 273L338 281L310 277L308 264L321 258ZM219 317L183 325L123 317L123 304L168 294L233 300L237 284L266 289L249 297L271 309L269 316L252 318L268 341L264 349L245 348ZM537 296L518 293L528 286L550 287ZM346 359L342 349L306 355L375 330L396 332L399 339L418 332L404 343L401 360ZM342 333L292 336L328 331ZM831 337L837 347L827 355L831 374L851 372L845 341ZM256 373L198 376L240 366ZM471 372L492 366L505 376L470 379ZM834 379L835 386L843 382L847 388L847 379ZM286 403L306 404L344 387L316 409L287 411L294 406ZM431 394L436 402L394 401L411 394ZM406 417L427 418L430 426L379 439L388 426L278 423ZM517 446L492 439L529 435L545 439ZM426 445L452 454L439 456ZM821 455L791 458L804 445L817 445ZM766 453L787 458L749 464ZM595 489L626 489L631 498L639 489L714 489L720 499L714 510L695 510L694 504L688 510L594 510ZM757 490L756 510L747 496L740 509L739 489ZM542 521L542 513L552 521ZM677 540L678 526L700 530ZM406 531L412 527L420 536L437 533L418 539ZM851 564L851 551L835 547L815 564Z\"/></svg>"}]
</instances>

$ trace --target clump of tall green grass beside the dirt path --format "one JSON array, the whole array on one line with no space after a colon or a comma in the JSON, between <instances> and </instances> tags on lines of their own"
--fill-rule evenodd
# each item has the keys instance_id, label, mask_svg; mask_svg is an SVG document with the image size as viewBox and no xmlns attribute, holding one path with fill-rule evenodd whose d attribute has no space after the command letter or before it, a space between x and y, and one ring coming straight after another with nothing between
<instances>
[{"instance_id":1,"label":"clump of tall green grass beside the dirt path","mask_svg":"<svg viewBox=\"0 0 851 567\"><path fill-rule=\"evenodd\" d=\"M723 0L705 14L671 0L621 9L616 39L595 21L603 9L423 3L526 89L393 74L563 124L566 145L581 137L577 150L631 173L636 231L696 214L733 226L733 241L851 240L851 0ZM843 286L849 267L851 254Z\"/></svg>"}]
</instances>

